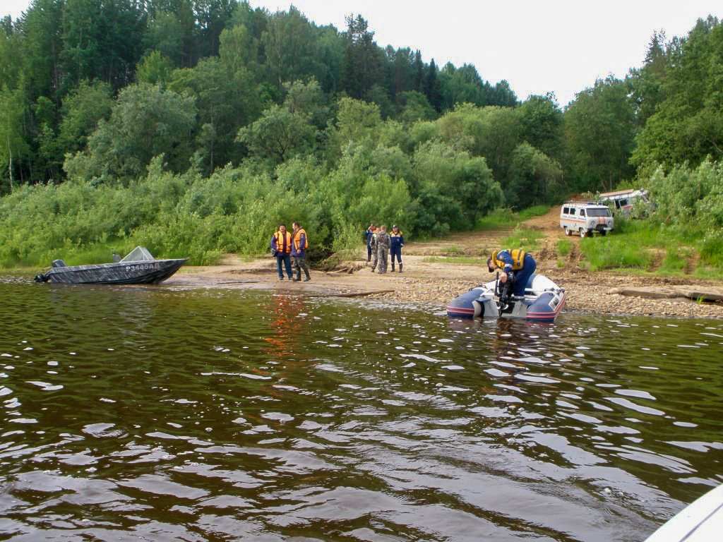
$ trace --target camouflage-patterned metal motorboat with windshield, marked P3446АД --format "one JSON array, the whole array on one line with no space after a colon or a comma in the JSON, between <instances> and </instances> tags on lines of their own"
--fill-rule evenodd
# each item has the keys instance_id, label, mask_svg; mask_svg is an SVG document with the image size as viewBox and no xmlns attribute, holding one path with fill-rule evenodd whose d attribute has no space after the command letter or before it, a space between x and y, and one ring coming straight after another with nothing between
<instances>
[{"instance_id":1,"label":"camouflage-patterned metal motorboat with windshield, marked P3446\u0410\u0414","mask_svg":"<svg viewBox=\"0 0 723 542\"><path fill-rule=\"evenodd\" d=\"M63 284L158 284L171 277L188 258L155 259L143 246L137 246L111 264L66 265L56 259L51 269L35 276L36 283Z\"/></svg>"}]
</instances>

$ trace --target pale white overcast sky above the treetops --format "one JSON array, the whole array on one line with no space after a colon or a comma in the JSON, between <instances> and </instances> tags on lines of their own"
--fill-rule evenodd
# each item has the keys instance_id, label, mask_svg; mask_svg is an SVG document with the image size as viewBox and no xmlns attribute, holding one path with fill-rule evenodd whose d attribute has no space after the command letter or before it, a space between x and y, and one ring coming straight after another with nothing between
<instances>
[{"instance_id":1,"label":"pale white overcast sky above the treetops","mask_svg":"<svg viewBox=\"0 0 723 542\"><path fill-rule=\"evenodd\" d=\"M699 17L723 18L720 0L250 0L271 12L294 4L317 25L361 14L380 46L422 51L438 66L474 64L517 97L554 92L560 106L598 77L641 66L654 30L687 35ZM17 17L29 0L2 0Z\"/></svg>"}]
</instances>

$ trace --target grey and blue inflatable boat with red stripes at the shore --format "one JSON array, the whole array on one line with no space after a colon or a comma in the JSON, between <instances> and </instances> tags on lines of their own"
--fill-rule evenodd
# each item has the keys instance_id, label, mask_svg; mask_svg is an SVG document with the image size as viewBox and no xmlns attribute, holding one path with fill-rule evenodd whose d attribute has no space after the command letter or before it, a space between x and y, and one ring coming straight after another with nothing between
<instances>
[{"instance_id":1,"label":"grey and blue inflatable boat with red stripes at the shore","mask_svg":"<svg viewBox=\"0 0 723 542\"><path fill-rule=\"evenodd\" d=\"M487 284L471 288L447 306L450 318L524 318L535 322L555 322L565 304L565 289L543 275L532 275L525 296L513 296L513 284L499 276Z\"/></svg>"}]
</instances>

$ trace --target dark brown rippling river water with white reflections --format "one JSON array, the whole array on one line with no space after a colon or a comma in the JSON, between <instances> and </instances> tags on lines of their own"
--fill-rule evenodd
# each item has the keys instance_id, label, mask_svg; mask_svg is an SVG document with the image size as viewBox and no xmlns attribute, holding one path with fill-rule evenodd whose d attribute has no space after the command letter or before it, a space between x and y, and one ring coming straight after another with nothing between
<instances>
[{"instance_id":1,"label":"dark brown rippling river water with white reflections","mask_svg":"<svg viewBox=\"0 0 723 542\"><path fill-rule=\"evenodd\" d=\"M643 541L723 482L723 322L0 279L0 539Z\"/></svg>"}]
</instances>

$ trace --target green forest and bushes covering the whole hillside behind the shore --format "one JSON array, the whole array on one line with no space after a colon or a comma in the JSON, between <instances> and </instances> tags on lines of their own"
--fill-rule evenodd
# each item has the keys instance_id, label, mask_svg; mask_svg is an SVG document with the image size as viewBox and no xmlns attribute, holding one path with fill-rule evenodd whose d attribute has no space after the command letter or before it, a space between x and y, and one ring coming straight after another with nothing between
<instances>
[{"instance_id":1,"label":"green forest and bushes covering the whole hillside behind the shore","mask_svg":"<svg viewBox=\"0 0 723 542\"><path fill-rule=\"evenodd\" d=\"M361 14L34 0L0 21L0 265L137 244L209 263L292 220L322 258L370 220L425 238L633 185L660 227L723 246L722 81L715 17L561 107L381 46Z\"/></svg>"}]
</instances>

